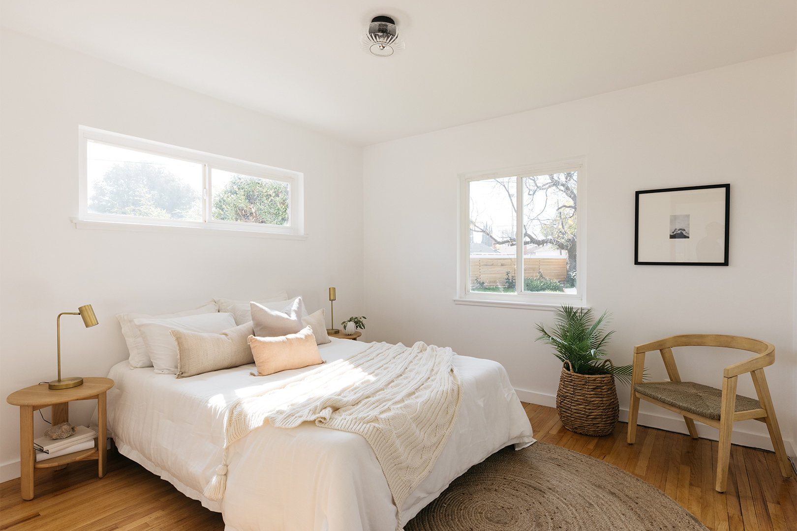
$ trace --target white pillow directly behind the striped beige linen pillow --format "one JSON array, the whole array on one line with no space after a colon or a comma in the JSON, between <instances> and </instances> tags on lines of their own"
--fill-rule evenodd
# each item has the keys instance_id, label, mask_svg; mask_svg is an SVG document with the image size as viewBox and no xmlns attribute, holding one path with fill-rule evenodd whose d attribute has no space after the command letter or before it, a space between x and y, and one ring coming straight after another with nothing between
<instances>
[{"instance_id":1,"label":"white pillow directly behind the striped beige linen pillow","mask_svg":"<svg viewBox=\"0 0 797 531\"><path fill-rule=\"evenodd\" d=\"M135 319L155 373L177 374L177 344L169 330L221 334L235 328L233 314L198 314L171 319Z\"/></svg>"}]
</instances>

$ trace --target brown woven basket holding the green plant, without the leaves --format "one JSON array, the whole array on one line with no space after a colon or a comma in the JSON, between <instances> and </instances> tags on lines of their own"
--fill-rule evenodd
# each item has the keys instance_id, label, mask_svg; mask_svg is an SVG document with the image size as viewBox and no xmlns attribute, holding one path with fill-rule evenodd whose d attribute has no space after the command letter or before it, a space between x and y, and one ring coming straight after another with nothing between
<instances>
[{"instance_id":1,"label":"brown woven basket holding the green plant, without the leaves","mask_svg":"<svg viewBox=\"0 0 797 531\"><path fill-rule=\"evenodd\" d=\"M565 361L567 365L569 362ZM578 374L564 365L556 392L559 420L583 435L609 435L620 415L617 387L611 374Z\"/></svg>"}]
</instances>

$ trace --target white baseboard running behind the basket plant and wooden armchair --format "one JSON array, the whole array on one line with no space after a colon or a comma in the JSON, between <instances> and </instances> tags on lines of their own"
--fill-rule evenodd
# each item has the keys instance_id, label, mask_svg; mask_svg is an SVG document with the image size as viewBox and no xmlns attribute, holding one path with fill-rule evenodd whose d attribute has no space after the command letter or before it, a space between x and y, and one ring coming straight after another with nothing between
<instances>
[{"instance_id":1,"label":"white baseboard running behind the basket plant and wooden armchair","mask_svg":"<svg viewBox=\"0 0 797 531\"><path fill-rule=\"evenodd\" d=\"M540 404L548 406L549 408L556 408L556 396L546 395L541 392L527 391L525 389L515 389L517 397L524 402L532 404ZM628 422L628 410L620 408L620 421ZM656 415L651 413L639 412L638 424L640 426L647 426L649 428L658 428L660 430L674 431L676 433L689 433L686 429L686 424L682 417L673 418L664 415ZM761 424L764 426L764 424ZM696 423L697 435L703 439L719 440L720 431L705 424ZM759 433L752 433L744 430L744 428L734 428L731 442L740 444L741 446L748 446L753 448L761 448L763 450L773 451L772 442L769 435L761 435ZM795 453L795 442L783 439L783 446L786 447L786 453L791 459L797 459Z\"/></svg>"}]
</instances>

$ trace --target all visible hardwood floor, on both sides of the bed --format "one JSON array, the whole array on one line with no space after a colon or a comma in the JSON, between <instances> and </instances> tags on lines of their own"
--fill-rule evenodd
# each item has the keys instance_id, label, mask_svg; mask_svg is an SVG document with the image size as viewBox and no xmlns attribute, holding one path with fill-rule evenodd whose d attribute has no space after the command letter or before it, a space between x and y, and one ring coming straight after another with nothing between
<instances>
[{"instance_id":1,"label":"all visible hardwood floor, on both sides of the bed","mask_svg":"<svg viewBox=\"0 0 797 531\"><path fill-rule=\"evenodd\" d=\"M589 437L567 431L556 409L524 404L534 435L546 443L603 459L663 490L717 531L797 531L797 481L780 476L775 455L732 447L728 492L714 490L717 442L640 427L626 444L626 424ZM117 452L108 474L96 462L36 470L36 498L24 502L19 479L0 484L0 529L11 531L222 531L219 513L180 494L171 483Z\"/></svg>"}]
</instances>

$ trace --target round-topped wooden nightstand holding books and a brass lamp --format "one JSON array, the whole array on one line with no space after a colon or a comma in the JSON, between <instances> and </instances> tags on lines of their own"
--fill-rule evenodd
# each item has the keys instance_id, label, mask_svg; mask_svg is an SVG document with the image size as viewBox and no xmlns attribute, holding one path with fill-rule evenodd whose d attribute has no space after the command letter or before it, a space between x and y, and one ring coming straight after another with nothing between
<instances>
[{"instance_id":1,"label":"round-topped wooden nightstand holding books and a brass lamp","mask_svg":"<svg viewBox=\"0 0 797 531\"><path fill-rule=\"evenodd\" d=\"M31 385L12 392L6 401L19 406L19 440L20 440L20 490L23 500L33 499L33 469L63 468L67 463L96 459L97 469L102 478L105 475L107 446L105 435L105 392L113 387L110 378L84 378L83 385L69 389L49 389L47 384ZM98 423L97 438L91 450L76 451L71 454L53 457L44 461L36 461L33 450L33 412L37 409L52 407L50 410L53 426L69 421L69 402L73 400L97 401Z\"/></svg>"}]
</instances>

